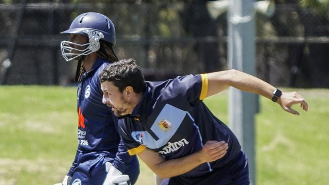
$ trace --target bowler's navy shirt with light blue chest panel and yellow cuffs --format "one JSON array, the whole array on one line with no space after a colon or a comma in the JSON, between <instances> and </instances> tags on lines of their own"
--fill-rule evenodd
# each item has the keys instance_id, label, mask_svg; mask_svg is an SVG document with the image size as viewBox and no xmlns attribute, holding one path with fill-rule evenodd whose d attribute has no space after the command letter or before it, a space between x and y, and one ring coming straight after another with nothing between
<instances>
[{"instance_id":1,"label":"bowler's navy shirt with light blue chest panel and yellow cuffs","mask_svg":"<svg viewBox=\"0 0 329 185\"><path fill-rule=\"evenodd\" d=\"M119 132L130 155L146 147L166 160L181 158L202 149L209 140L225 141L227 154L182 174L201 176L220 168L241 151L233 132L205 106L208 75L188 75L161 82L146 82L142 100L131 115L119 119Z\"/></svg>"}]
</instances>

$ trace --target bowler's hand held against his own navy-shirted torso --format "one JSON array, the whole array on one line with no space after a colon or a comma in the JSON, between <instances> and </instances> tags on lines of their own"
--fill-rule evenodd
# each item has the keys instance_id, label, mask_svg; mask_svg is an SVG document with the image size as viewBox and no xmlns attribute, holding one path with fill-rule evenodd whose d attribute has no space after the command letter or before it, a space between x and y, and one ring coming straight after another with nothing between
<instances>
[{"instance_id":1,"label":"bowler's hand held against his own navy-shirted torso","mask_svg":"<svg viewBox=\"0 0 329 185\"><path fill-rule=\"evenodd\" d=\"M228 144L224 141L208 141L199 151L202 162L216 161L225 156L228 149Z\"/></svg>"}]
</instances>

